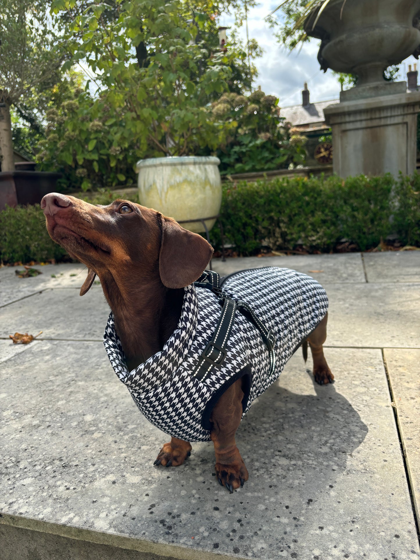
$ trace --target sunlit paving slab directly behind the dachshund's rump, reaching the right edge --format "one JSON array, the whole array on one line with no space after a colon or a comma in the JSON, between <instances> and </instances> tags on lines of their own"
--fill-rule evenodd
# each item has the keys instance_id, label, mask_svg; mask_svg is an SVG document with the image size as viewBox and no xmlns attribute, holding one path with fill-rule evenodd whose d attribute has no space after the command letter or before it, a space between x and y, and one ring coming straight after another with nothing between
<instances>
[{"instance_id":1,"label":"sunlit paving slab directly behind the dachshund's rump, reaching the right edge","mask_svg":"<svg viewBox=\"0 0 420 560\"><path fill-rule=\"evenodd\" d=\"M328 346L420 348L418 284L323 284Z\"/></svg>"}]
</instances>

